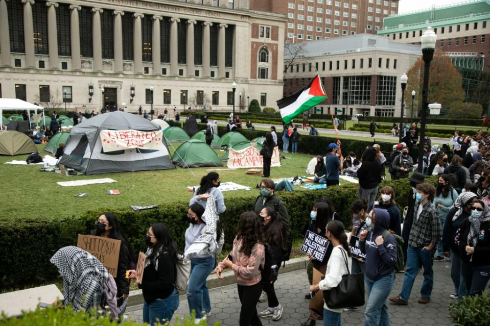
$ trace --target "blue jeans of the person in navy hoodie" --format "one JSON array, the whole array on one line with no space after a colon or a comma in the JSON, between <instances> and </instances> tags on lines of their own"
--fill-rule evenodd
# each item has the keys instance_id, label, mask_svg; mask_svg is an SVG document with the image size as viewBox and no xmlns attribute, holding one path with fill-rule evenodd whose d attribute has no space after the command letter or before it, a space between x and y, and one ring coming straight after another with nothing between
<instances>
[{"instance_id":1,"label":"blue jeans of the person in navy hoodie","mask_svg":"<svg viewBox=\"0 0 490 326\"><path fill-rule=\"evenodd\" d=\"M366 310L364 311L366 320L364 326L389 326L390 317L388 316L386 299L393 288L395 280L394 271L376 281L369 279L367 276L364 280L367 289Z\"/></svg>"}]
</instances>

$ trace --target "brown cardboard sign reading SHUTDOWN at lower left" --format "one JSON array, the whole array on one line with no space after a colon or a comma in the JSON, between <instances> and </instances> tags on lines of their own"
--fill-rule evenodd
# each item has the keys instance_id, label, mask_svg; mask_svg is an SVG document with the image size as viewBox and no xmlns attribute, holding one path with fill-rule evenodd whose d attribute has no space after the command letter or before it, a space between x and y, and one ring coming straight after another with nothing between
<instances>
[{"instance_id":1,"label":"brown cardboard sign reading SHUTDOWN at lower left","mask_svg":"<svg viewBox=\"0 0 490 326\"><path fill-rule=\"evenodd\" d=\"M94 255L113 277L118 275L121 240L79 234L77 247Z\"/></svg>"}]
</instances>

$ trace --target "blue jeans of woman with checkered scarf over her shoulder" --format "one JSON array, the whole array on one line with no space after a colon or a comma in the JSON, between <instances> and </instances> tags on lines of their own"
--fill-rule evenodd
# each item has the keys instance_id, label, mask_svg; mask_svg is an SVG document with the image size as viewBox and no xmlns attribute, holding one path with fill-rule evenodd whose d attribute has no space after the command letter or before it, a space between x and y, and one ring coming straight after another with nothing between
<instances>
[{"instance_id":1,"label":"blue jeans of woman with checkered scarf over her shoulder","mask_svg":"<svg viewBox=\"0 0 490 326\"><path fill-rule=\"evenodd\" d=\"M203 312L211 311L211 300L207 290L206 279L215 267L215 257L191 259L191 274L187 286L189 312L196 312L196 318L202 318Z\"/></svg>"}]
</instances>

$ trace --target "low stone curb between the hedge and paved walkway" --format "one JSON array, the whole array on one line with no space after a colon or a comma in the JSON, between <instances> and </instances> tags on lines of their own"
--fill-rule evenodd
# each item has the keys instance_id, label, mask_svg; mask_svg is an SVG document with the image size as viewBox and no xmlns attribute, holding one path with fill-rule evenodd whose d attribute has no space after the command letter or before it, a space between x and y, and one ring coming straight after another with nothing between
<instances>
[{"instance_id":1,"label":"low stone curb between the hedge and paved walkway","mask_svg":"<svg viewBox=\"0 0 490 326\"><path fill-rule=\"evenodd\" d=\"M296 271L300 269L306 269L306 265L308 264L308 257L300 257L293 258L286 262L286 266L281 265L279 269L279 274L287 273L291 271ZM284 264L284 263L283 263ZM213 273L207 277L207 287L209 289L222 287L225 285L230 285L236 283L237 279L235 278L235 273L231 270L228 270L222 274L223 280L218 279L216 273ZM180 293L180 295L184 295L184 293ZM132 306L138 306L143 304L143 292L142 290L133 290L129 292L128 299L128 310Z\"/></svg>"}]
</instances>

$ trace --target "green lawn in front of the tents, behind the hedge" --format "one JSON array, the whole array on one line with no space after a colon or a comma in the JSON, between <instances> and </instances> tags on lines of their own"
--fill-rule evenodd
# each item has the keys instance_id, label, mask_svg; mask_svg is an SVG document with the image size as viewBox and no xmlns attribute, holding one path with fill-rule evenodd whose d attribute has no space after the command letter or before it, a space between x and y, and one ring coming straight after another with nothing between
<instances>
[{"instance_id":1,"label":"green lawn in front of the tents, behind the hedge","mask_svg":"<svg viewBox=\"0 0 490 326\"><path fill-rule=\"evenodd\" d=\"M175 147L178 143L173 143ZM44 145L37 145L41 156L49 154L42 151ZM173 149L171 148L171 152ZM217 151L219 156L224 152ZM305 175L306 167L311 159L309 155L290 154L283 159L281 167L271 168L271 178L289 178ZM186 186L195 186L201 177L208 173L206 169L215 167L180 168L174 170L138 171L125 173L107 173L98 175L79 175L62 177L55 172L41 172L42 165L10 165L3 164L11 160L25 160L27 155L15 157L0 156L2 173L2 210L0 218L63 218L77 215L89 210L105 208L129 208L130 205L145 206L162 203L188 201L192 194ZM218 167L221 168L221 167ZM223 166L222 168L226 168ZM255 197L258 190L255 185L262 179L260 175L247 175L246 169L218 171L221 182L236 182L248 186L250 191L226 191L226 200L234 197ZM62 187L59 181L87 180L111 178L116 183L96 184L79 187ZM307 191L295 186L296 190ZM107 190L118 189L120 195L107 195ZM308 190L310 191L310 190ZM74 197L86 192L86 197Z\"/></svg>"}]
</instances>

